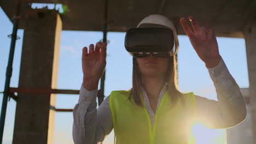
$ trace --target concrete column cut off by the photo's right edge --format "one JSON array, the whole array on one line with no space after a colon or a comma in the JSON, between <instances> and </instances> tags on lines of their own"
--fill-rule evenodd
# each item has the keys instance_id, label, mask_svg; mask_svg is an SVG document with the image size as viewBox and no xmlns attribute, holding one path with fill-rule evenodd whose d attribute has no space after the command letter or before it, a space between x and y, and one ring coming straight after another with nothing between
<instances>
[{"instance_id":1,"label":"concrete column cut off by the photo's right edge","mask_svg":"<svg viewBox=\"0 0 256 144\"><path fill-rule=\"evenodd\" d=\"M256 137L256 17L245 27L246 55L249 77L249 104L252 113L253 137ZM254 138L254 143L256 139Z\"/></svg>"}]
</instances>

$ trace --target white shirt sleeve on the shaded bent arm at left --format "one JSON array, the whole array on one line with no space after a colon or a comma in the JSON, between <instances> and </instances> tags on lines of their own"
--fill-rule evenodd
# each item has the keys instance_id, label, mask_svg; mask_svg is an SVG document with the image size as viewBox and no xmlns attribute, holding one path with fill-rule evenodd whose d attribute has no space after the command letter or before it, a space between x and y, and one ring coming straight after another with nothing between
<instances>
[{"instance_id":1,"label":"white shirt sleeve on the shaded bent arm at left","mask_svg":"<svg viewBox=\"0 0 256 144\"><path fill-rule=\"evenodd\" d=\"M109 96L97 109L97 89L80 88L78 103L73 110L74 144L101 143L113 129Z\"/></svg>"}]
</instances>

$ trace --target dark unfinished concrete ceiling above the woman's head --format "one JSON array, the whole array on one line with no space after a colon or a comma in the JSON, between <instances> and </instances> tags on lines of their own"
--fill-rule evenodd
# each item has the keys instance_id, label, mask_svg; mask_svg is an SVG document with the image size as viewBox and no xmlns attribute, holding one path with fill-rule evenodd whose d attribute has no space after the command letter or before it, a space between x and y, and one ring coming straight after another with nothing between
<instances>
[{"instance_id":1,"label":"dark unfinished concrete ceiling above the woman's head","mask_svg":"<svg viewBox=\"0 0 256 144\"><path fill-rule=\"evenodd\" d=\"M67 13L62 14L63 30L102 31L104 0L39 1L31 3L62 3ZM16 0L1 0L0 5L9 18L13 17ZM218 37L243 38L243 28L255 19L253 0L108 0L108 31L126 32L150 14L162 14L174 22L179 35L184 35L180 17L192 15L202 26L210 26ZM24 10L23 10L24 12ZM20 28L25 19L22 19ZM189 22L189 21L188 21Z\"/></svg>"}]
</instances>

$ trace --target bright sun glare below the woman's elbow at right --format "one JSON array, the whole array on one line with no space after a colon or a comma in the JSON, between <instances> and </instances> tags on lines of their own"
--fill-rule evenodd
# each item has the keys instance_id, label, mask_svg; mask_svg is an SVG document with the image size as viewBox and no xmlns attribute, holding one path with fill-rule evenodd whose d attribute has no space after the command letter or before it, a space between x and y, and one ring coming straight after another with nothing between
<instances>
[{"instance_id":1,"label":"bright sun glare below the woman's elbow at right","mask_svg":"<svg viewBox=\"0 0 256 144\"><path fill-rule=\"evenodd\" d=\"M189 144L226 144L225 129L210 129L195 123L191 129Z\"/></svg>"}]
</instances>

